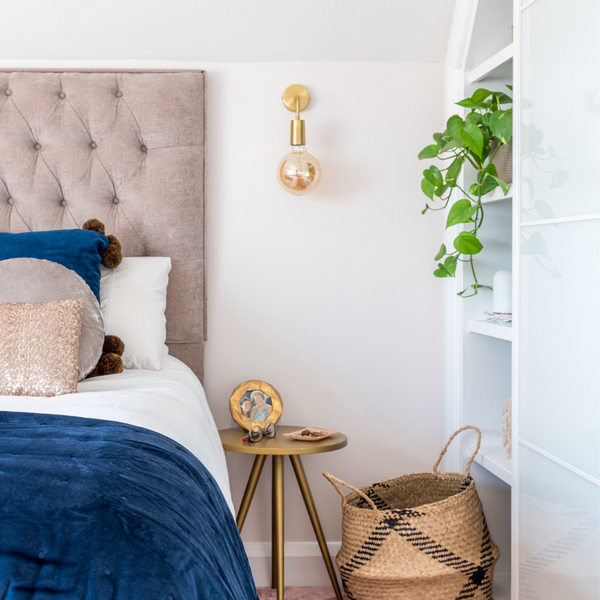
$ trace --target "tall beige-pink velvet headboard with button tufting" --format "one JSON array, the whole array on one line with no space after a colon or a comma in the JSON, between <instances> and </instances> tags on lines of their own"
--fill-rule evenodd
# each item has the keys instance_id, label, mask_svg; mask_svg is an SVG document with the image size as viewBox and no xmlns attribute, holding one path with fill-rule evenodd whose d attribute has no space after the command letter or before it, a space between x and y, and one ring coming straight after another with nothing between
<instances>
[{"instance_id":1,"label":"tall beige-pink velvet headboard with button tufting","mask_svg":"<svg viewBox=\"0 0 600 600\"><path fill-rule=\"evenodd\" d=\"M204 90L204 71L0 70L0 231L97 218L125 256L170 256L169 352L200 379Z\"/></svg>"}]
</instances>

